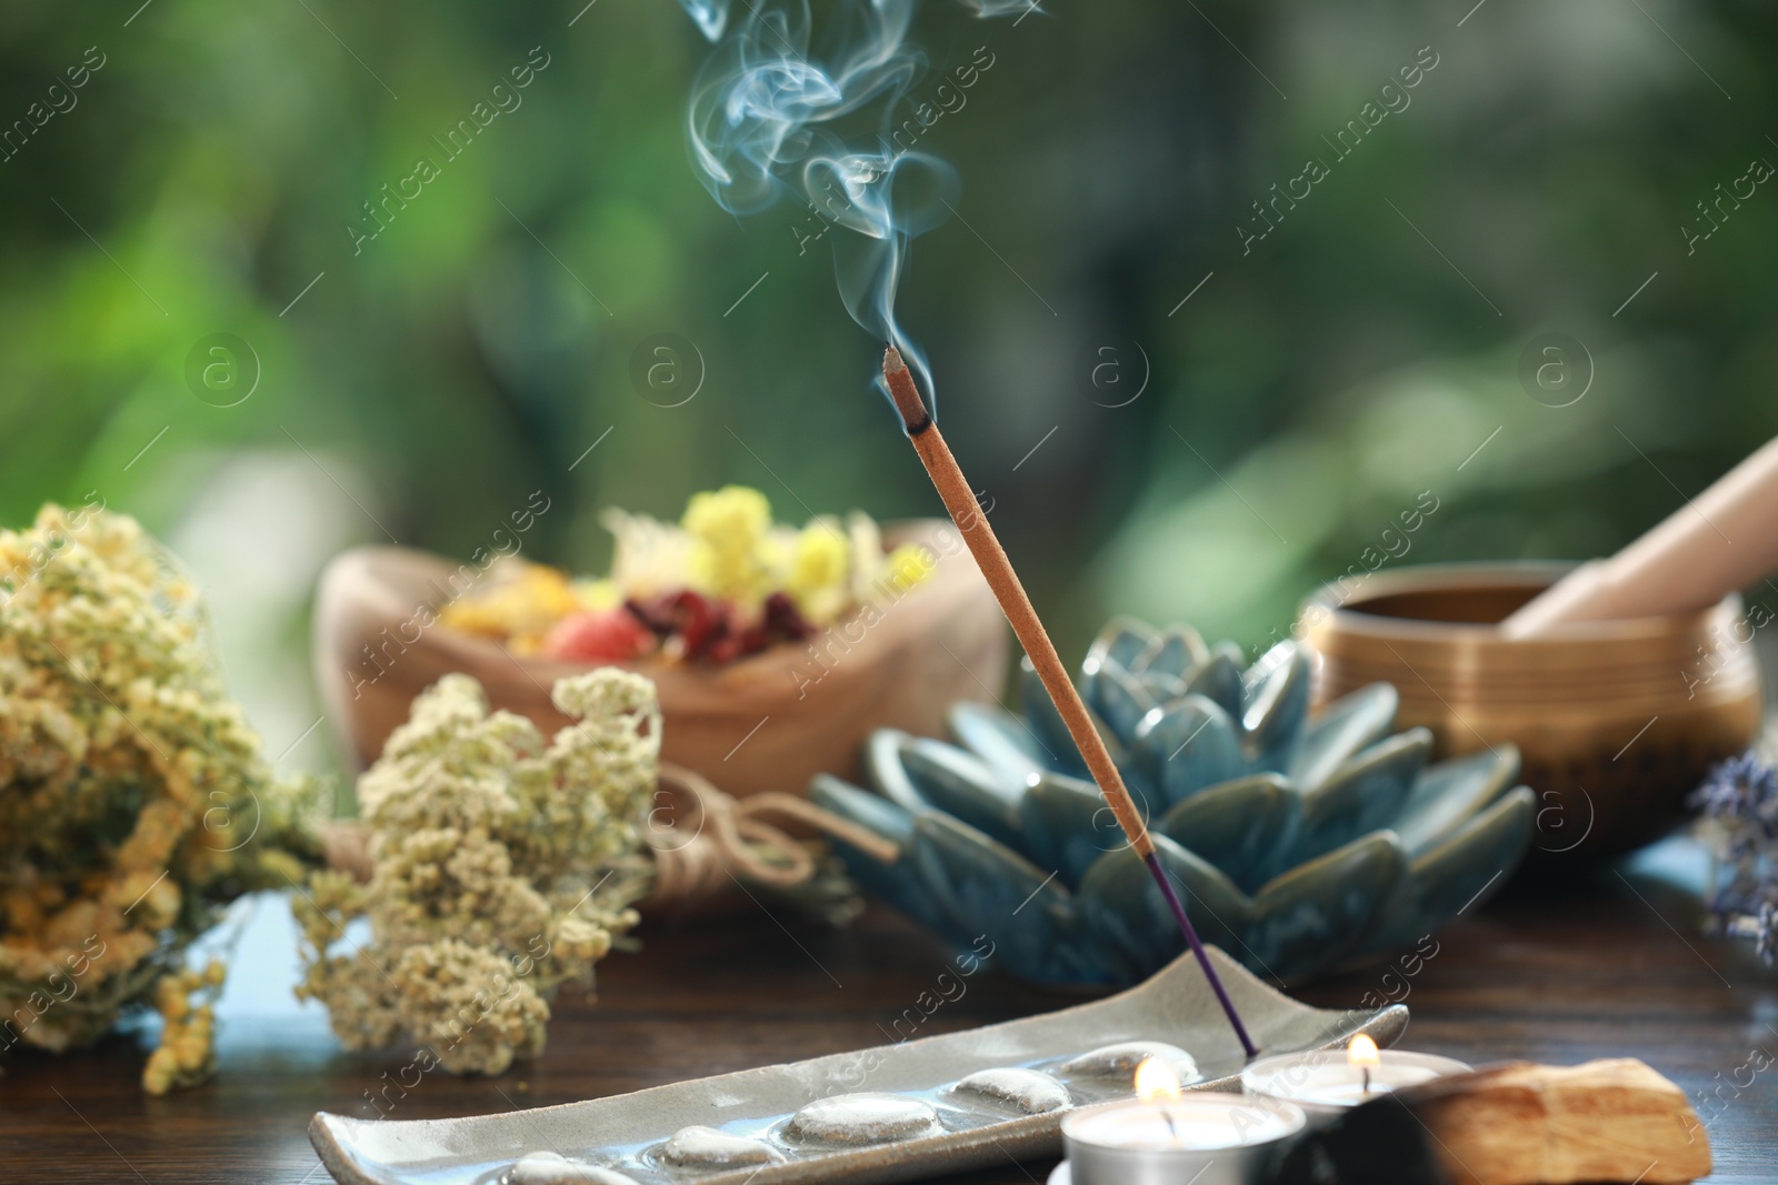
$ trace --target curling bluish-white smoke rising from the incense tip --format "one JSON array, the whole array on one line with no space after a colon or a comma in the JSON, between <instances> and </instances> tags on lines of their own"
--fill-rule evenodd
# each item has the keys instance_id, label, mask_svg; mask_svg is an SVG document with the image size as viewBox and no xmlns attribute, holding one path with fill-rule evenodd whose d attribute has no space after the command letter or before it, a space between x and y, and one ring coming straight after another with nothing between
<instances>
[{"instance_id":1,"label":"curling bluish-white smoke rising from the incense tip","mask_svg":"<svg viewBox=\"0 0 1778 1185\"><path fill-rule=\"evenodd\" d=\"M983 18L1035 7L960 2ZM788 197L852 231L832 235L839 297L859 325L901 350L935 405L926 357L894 314L909 243L951 213L958 190L948 163L891 135L896 103L926 66L907 39L919 0L829 0L820 44L809 0L743 0L740 12L731 0L681 4L717 43L688 117L704 188L734 215Z\"/></svg>"}]
</instances>

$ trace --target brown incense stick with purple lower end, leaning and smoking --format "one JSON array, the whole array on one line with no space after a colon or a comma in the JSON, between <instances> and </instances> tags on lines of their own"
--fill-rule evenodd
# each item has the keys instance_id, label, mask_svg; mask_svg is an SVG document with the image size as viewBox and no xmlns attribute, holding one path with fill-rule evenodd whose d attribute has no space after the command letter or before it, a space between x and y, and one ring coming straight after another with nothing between
<instances>
[{"instance_id":1,"label":"brown incense stick with purple lower end, leaning and smoking","mask_svg":"<svg viewBox=\"0 0 1778 1185\"><path fill-rule=\"evenodd\" d=\"M1168 908L1173 911L1179 931L1198 958L1204 977L1209 981L1211 990L1216 991L1216 1000L1221 1002L1223 1013L1229 1014L1229 1023L1234 1025L1236 1036L1241 1038L1241 1048L1246 1050L1248 1057L1259 1054L1259 1046L1246 1036L1241 1014L1234 1011L1234 1000L1229 998L1227 988L1223 988L1216 968L1211 965L1211 956L1204 950L1204 943L1198 942L1198 931L1193 929L1191 919L1186 917L1186 908L1179 903L1179 894L1173 892L1172 881L1166 879L1166 871L1154 851L1154 840L1149 837L1149 824L1143 821L1141 812L1136 810L1136 801L1124 785L1124 775L1118 773L1117 762L1106 752L1106 743L1093 727L1086 704L1081 702L1081 693L1074 689L1074 680L1069 679L1069 670L1061 664L1061 657L1056 654L1044 622L1038 620L1037 609L1024 592L1024 585L1019 583L1019 574L1013 572L1012 560L1006 558L1006 551L994 537L994 528L981 515L981 506L976 503L964 471L958 467L957 458L951 457L951 449L944 442L939 426L932 423L932 416L919 398L919 387L914 386L914 375L907 370L907 362L901 361L901 354L894 345L884 352L884 382L889 386L889 396L901 416L901 426L907 430L909 441L914 442L914 451L919 453L919 460L926 465L926 476L932 478L939 497L944 499L944 508L951 513L951 522L964 533L964 542L969 544L969 553L976 558L976 567L981 569L981 576L987 577L989 588L994 590L1001 611L1012 622L1012 632L1019 636L1019 643L1037 668L1037 677L1044 680L1049 698L1061 714L1061 721L1069 727L1069 736L1074 737L1081 757L1086 759L1086 767L1092 771L1093 782L1099 783L1099 792L1106 796L1106 803L1111 807L1111 814L1117 815L1118 826L1124 828L1136 855L1149 865L1156 885L1161 887L1161 897L1166 899Z\"/></svg>"}]
</instances>

